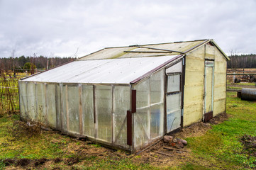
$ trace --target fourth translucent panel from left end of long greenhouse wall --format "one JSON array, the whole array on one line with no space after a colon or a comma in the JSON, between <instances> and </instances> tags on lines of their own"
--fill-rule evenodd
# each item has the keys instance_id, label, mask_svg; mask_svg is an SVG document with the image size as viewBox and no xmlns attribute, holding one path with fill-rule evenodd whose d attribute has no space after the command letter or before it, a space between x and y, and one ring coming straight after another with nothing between
<instances>
[{"instance_id":1,"label":"fourth translucent panel from left end of long greenhouse wall","mask_svg":"<svg viewBox=\"0 0 256 170\"><path fill-rule=\"evenodd\" d=\"M55 84L46 84L46 106L48 125L56 128Z\"/></svg>"}]
</instances>

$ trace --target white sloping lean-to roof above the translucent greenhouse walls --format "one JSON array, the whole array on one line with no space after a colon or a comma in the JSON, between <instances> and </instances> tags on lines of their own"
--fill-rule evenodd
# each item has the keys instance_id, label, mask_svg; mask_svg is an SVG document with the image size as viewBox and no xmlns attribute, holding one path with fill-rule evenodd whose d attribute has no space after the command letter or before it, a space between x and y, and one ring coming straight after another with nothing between
<instances>
[{"instance_id":1,"label":"white sloping lean-to roof above the translucent greenhouse walls","mask_svg":"<svg viewBox=\"0 0 256 170\"><path fill-rule=\"evenodd\" d=\"M178 55L109 60L80 60L50 69L21 81L89 84L130 84Z\"/></svg>"}]
</instances>

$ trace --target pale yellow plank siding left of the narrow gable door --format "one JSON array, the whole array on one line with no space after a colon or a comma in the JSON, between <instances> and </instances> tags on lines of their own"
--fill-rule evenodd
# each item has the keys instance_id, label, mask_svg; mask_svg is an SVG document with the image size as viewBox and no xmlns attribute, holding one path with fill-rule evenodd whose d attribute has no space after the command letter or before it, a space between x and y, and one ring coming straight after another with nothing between
<instances>
[{"instance_id":1,"label":"pale yellow plank siding left of the narrow gable door","mask_svg":"<svg viewBox=\"0 0 256 170\"><path fill-rule=\"evenodd\" d=\"M186 56L184 126L201 121L204 104L204 46Z\"/></svg>"}]
</instances>

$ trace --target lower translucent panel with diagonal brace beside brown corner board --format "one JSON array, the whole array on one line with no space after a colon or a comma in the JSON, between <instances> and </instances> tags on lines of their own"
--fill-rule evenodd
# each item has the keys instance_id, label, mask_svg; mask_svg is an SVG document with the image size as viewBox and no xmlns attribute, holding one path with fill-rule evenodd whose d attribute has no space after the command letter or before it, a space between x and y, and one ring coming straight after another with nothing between
<instances>
[{"instance_id":1,"label":"lower translucent panel with diagonal brace beside brown corner board","mask_svg":"<svg viewBox=\"0 0 256 170\"><path fill-rule=\"evenodd\" d=\"M150 108L137 109L133 113L133 143L134 147L143 147L150 140Z\"/></svg>"}]
</instances>

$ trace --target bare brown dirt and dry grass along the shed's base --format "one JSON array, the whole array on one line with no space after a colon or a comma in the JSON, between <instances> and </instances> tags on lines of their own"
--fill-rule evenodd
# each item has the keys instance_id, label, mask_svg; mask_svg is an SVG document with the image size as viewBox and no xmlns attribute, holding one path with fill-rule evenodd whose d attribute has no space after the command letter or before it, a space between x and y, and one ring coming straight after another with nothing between
<instances>
[{"instance_id":1,"label":"bare brown dirt and dry grass along the shed's base","mask_svg":"<svg viewBox=\"0 0 256 170\"><path fill-rule=\"evenodd\" d=\"M174 134L175 137L185 139L187 137L201 136L211 129L211 125L227 120L229 115L223 113L216 116L208 123L195 123L187 128L182 129L180 132ZM74 142L69 143L65 152L76 153L76 157L65 159L4 159L6 169L61 169L60 167L72 167L72 165L93 166L90 164L90 159L108 160L115 159L120 161L122 159L130 159L134 163L151 164L157 167L172 166L187 162L190 157L191 150L185 146L182 149L177 149L164 143L163 140L157 142L152 147L149 147L139 154L128 154L120 150L108 149L106 147L95 147L90 141L81 141L82 145L76 145L77 139L72 139ZM51 142L60 142L57 139ZM165 149L172 148L172 150ZM10 166L12 165L12 166ZM56 166L55 166L56 165Z\"/></svg>"}]
</instances>

